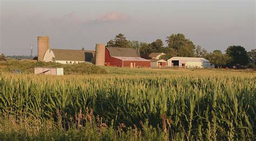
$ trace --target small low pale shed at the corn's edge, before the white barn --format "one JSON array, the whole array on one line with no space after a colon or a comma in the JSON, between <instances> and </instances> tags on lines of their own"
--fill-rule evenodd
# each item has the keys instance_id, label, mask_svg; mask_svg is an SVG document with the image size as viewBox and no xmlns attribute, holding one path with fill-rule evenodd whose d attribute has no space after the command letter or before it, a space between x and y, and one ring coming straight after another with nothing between
<instances>
[{"instance_id":1,"label":"small low pale shed at the corn's edge, before the white barn","mask_svg":"<svg viewBox=\"0 0 256 141\"><path fill-rule=\"evenodd\" d=\"M35 67L35 74L63 75L63 68Z\"/></svg>"}]
</instances>

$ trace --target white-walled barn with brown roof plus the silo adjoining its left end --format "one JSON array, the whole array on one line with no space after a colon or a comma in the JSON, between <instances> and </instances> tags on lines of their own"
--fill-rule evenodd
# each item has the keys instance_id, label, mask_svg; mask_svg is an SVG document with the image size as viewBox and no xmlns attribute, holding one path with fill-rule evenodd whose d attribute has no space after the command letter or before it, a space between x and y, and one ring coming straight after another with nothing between
<instances>
[{"instance_id":1,"label":"white-walled barn with brown roof plus the silo adjoining its left end","mask_svg":"<svg viewBox=\"0 0 256 141\"><path fill-rule=\"evenodd\" d=\"M52 49L49 37L37 37L37 46L38 60L45 62L55 61L60 64L91 62L95 55L95 51Z\"/></svg>"}]
</instances>

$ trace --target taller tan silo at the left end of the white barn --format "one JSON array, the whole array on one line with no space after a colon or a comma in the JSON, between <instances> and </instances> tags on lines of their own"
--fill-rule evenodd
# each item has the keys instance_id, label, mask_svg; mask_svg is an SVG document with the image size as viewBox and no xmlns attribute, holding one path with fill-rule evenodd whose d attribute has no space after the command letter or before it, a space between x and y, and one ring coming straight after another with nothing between
<instances>
[{"instance_id":1,"label":"taller tan silo at the left end of the white barn","mask_svg":"<svg viewBox=\"0 0 256 141\"><path fill-rule=\"evenodd\" d=\"M37 55L38 61L44 61L45 52L50 49L50 39L48 36L37 37Z\"/></svg>"}]
</instances>

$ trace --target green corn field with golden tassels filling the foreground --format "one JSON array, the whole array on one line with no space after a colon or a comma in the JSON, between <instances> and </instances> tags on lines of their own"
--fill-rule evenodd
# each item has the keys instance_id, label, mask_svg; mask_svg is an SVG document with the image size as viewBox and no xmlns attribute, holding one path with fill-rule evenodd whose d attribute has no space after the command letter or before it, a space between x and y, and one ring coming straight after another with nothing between
<instances>
[{"instance_id":1,"label":"green corn field with golden tassels filling the foreground","mask_svg":"<svg viewBox=\"0 0 256 141\"><path fill-rule=\"evenodd\" d=\"M132 131L142 129L142 136L157 130L164 140L254 140L255 80L255 73L207 70L66 76L1 73L0 116L52 120L66 131L72 119L91 109L117 133L125 125ZM81 118L76 124L88 123Z\"/></svg>"}]
</instances>

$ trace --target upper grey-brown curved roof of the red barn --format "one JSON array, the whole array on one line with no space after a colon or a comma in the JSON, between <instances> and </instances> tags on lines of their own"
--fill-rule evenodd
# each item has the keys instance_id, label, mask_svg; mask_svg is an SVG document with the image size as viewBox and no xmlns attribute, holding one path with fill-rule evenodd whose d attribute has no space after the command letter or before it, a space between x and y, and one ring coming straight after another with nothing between
<instances>
[{"instance_id":1,"label":"upper grey-brown curved roof of the red barn","mask_svg":"<svg viewBox=\"0 0 256 141\"><path fill-rule=\"evenodd\" d=\"M126 47L107 47L111 57L137 57L140 58L139 52L134 48Z\"/></svg>"}]
</instances>

